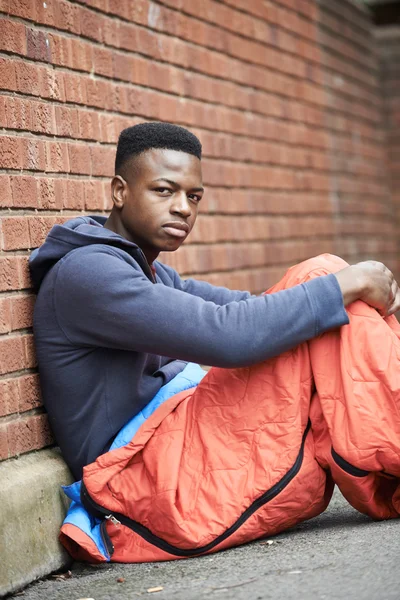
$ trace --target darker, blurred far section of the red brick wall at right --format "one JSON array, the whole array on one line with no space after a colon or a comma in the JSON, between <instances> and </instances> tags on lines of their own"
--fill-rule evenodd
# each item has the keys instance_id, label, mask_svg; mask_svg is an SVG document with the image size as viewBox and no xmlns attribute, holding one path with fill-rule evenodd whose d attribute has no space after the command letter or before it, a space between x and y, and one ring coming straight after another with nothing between
<instances>
[{"instance_id":1,"label":"darker, blurred far section of the red brick wall at right","mask_svg":"<svg viewBox=\"0 0 400 600\"><path fill-rule=\"evenodd\" d=\"M351 262L382 260L400 274L374 28L355 3L319 4L334 251Z\"/></svg>"}]
</instances>

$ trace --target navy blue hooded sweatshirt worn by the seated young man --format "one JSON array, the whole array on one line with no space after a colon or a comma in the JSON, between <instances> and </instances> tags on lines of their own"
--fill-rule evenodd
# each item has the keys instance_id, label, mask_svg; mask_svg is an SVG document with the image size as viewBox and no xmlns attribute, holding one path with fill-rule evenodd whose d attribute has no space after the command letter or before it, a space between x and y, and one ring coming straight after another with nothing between
<instances>
[{"instance_id":1,"label":"navy blue hooded sweatshirt worn by the seated young man","mask_svg":"<svg viewBox=\"0 0 400 600\"><path fill-rule=\"evenodd\" d=\"M244 367L348 323L334 275L265 296L154 276L105 220L56 225L30 259L43 401L76 478L187 361Z\"/></svg>"}]
</instances>

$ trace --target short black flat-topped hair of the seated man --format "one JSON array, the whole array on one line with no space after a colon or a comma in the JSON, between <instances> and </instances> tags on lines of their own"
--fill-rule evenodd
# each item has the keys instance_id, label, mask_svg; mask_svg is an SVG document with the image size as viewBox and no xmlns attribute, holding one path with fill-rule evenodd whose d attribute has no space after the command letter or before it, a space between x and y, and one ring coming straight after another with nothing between
<instances>
[{"instance_id":1,"label":"short black flat-topped hair of the seated man","mask_svg":"<svg viewBox=\"0 0 400 600\"><path fill-rule=\"evenodd\" d=\"M152 148L179 150L193 154L201 160L200 140L184 127L172 123L139 123L127 127L120 133L115 157L115 173L118 173L132 156Z\"/></svg>"}]
</instances>

